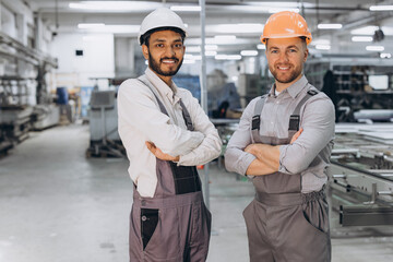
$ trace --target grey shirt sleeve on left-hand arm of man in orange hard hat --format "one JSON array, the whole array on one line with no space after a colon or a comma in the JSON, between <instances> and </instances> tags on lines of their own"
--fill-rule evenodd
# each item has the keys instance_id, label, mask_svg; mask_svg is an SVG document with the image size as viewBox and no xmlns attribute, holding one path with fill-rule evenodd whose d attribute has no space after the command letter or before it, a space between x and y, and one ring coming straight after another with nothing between
<instances>
[{"instance_id":1,"label":"grey shirt sleeve on left-hand arm of man in orange hard hat","mask_svg":"<svg viewBox=\"0 0 393 262\"><path fill-rule=\"evenodd\" d=\"M252 143L250 127L257 99L250 102L249 106L245 109L240 118L239 128L228 142L225 152L225 168L228 171L246 175L247 168L257 158L254 155L243 151Z\"/></svg>"}]
</instances>

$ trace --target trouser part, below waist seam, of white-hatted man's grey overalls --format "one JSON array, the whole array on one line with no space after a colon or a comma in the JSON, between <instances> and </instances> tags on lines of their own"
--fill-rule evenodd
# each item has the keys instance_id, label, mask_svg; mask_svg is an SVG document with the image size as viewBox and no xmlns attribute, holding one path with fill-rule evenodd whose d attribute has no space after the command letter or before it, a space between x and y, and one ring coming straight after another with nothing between
<instances>
[{"instance_id":1,"label":"trouser part, below waist seam, of white-hatted man's grey overalls","mask_svg":"<svg viewBox=\"0 0 393 262\"><path fill-rule=\"evenodd\" d=\"M142 209L158 210L158 222L147 245L142 241ZM206 261L212 216L202 192L138 201L130 219L130 262Z\"/></svg>"}]
</instances>

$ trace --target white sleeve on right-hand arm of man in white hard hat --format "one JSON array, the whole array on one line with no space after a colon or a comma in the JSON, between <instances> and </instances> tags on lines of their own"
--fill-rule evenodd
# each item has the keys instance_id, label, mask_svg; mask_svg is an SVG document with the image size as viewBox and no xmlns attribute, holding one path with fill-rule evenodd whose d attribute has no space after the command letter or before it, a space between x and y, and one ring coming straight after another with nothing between
<instances>
[{"instance_id":1,"label":"white sleeve on right-hand arm of man in white hard hat","mask_svg":"<svg viewBox=\"0 0 393 262\"><path fill-rule=\"evenodd\" d=\"M189 91L184 92L183 103L191 116L194 130L201 132L204 138L202 142L191 152L180 155L178 165L194 166L203 165L217 158L222 150L222 141L214 124L199 105L198 99L192 97Z\"/></svg>"}]
</instances>

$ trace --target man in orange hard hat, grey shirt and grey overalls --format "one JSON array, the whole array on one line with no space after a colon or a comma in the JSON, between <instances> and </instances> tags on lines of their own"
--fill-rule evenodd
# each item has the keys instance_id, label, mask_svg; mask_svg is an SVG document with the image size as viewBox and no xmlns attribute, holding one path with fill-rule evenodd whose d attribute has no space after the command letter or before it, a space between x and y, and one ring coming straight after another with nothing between
<instances>
[{"instance_id":1,"label":"man in orange hard hat, grey shirt and grey overalls","mask_svg":"<svg viewBox=\"0 0 393 262\"><path fill-rule=\"evenodd\" d=\"M300 14L271 15L261 40L275 83L247 106L225 153L226 168L255 188L243 212L251 262L331 261L324 188L334 106L302 74L311 39Z\"/></svg>"}]
</instances>

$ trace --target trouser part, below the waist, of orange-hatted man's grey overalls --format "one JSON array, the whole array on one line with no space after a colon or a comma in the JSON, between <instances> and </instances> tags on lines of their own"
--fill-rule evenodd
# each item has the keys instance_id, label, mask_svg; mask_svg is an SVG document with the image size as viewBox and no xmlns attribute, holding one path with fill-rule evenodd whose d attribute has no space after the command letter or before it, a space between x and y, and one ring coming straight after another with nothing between
<instances>
[{"instance_id":1,"label":"trouser part, below the waist, of orange-hatted man's grey overalls","mask_svg":"<svg viewBox=\"0 0 393 262\"><path fill-rule=\"evenodd\" d=\"M325 198L299 205L253 200L243 211L251 262L329 262L331 240Z\"/></svg>"}]
</instances>

